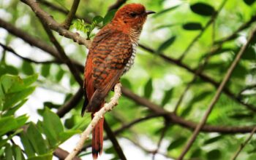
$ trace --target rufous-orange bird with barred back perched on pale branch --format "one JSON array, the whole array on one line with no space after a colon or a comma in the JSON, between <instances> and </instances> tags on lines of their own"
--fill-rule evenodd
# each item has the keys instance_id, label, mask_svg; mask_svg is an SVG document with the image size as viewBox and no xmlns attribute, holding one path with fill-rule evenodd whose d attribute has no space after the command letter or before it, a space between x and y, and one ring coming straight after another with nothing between
<instances>
[{"instance_id":1,"label":"rufous-orange bird with barred back perched on pale branch","mask_svg":"<svg viewBox=\"0 0 256 160\"><path fill-rule=\"evenodd\" d=\"M146 10L143 4L126 4L94 37L84 69L82 116L89 112L93 119L94 113L104 106L110 90L132 67L143 24L147 15L153 13ZM103 123L104 118L98 121L92 131L94 159L102 153Z\"/></svg>"}]
</instances>

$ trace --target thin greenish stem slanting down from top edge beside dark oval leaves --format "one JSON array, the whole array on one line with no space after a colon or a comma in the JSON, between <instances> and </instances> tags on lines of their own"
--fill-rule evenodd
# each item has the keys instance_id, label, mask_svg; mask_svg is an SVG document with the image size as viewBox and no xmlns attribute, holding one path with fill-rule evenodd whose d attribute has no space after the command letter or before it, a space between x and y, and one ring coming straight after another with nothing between
<instances>
[{"instance_id":1,"label":"thin greenish stem slanting down from top edge beside dark oval leaves","mask_svg":"<svg viewBox=\"0 0 256 160\"><path fill-rule=\"evenodd\" d=\"M222 4L220 4L219 9L217 10L217 12L214 12L214 14L211 16L211 19L208 21L208 23L206 23L206 26L200 31L200 33L197 36L195 36L195 38L191 41L191 43L189 44L187 49L185 49L185 51L181 54L181 57L179 57L178 60L182 61L184 59L184 57L187 55L189 50L193 47L195 42L198 39L200 39L200 37L203 35L204 31L206 31L206 29L211 25L211 23L214 23L214 20L217 18L217 16L219 15L219 12L222 10L222 8L226 4L226 2L227 2L227 0L222 1Z\"/></svg>"}]
</instances>

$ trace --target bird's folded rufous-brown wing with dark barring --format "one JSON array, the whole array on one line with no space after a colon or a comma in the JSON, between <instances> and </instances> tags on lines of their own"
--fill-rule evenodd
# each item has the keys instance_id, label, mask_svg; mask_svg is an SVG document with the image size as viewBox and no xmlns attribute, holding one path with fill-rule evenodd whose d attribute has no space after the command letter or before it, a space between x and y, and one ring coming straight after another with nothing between
<instances>
[{"instance_id":1,"label":"bird's folded rufous-brown wing with dark barring","mask_svg":"<svg viewBox=\"0 0 256 160\"><path fill-rule=\"evenodd\" d=\"M89 100L89 108L94 111L122 75L132 55L132 41L127 34L116 31L108 39L102 39L92 51L91 78L96 90Z\"/></svg>"}]
</instances>

